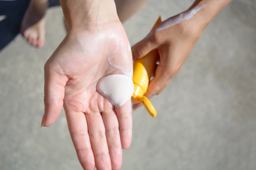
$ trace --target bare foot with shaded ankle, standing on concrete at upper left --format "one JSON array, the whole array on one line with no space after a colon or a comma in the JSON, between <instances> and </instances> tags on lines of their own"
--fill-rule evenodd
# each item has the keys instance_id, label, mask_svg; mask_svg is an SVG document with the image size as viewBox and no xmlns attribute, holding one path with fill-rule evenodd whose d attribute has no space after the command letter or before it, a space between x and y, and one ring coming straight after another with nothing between
<instances>
[{"instance_id":1,"label":"bare foot with shaded ankle, standing on concrete at upper left","mask_svg":"<svg viewBox=\"0 0 256 170\"><path fill-rule=\"evenodd\" d=\"M45 42L45 10L47 2L31 0L21 22L21 34L34 47L43 47Z\"/></svg>"}]
</instances>

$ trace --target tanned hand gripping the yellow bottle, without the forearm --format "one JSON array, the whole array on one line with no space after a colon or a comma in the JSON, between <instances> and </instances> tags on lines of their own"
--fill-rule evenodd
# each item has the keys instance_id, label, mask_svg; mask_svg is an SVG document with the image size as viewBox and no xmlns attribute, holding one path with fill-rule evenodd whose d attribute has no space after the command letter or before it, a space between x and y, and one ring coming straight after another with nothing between
<instances>
[{"instance_id":1,"label":"tanned hand gripping the yellow bottle, without the forearm","mask_svg":"<svg viewBox=\"0 0 256 170\"><path fill-rule=\"evenodd\" d=\"M199 8L198 8L199 9ZM147 98L161 93L171 79L180 71L190 51L194 47L203 26L194 18L182 20L187 12L173 16L153 29L146 38L132 47L133 60L140 59L150 51L157 49L160 64L155 71L155 77L150 81ZM202 20L202 18L201 18ZM133 109L140 107L142 103L133 105Z\"/></svg>"}]
</instances>

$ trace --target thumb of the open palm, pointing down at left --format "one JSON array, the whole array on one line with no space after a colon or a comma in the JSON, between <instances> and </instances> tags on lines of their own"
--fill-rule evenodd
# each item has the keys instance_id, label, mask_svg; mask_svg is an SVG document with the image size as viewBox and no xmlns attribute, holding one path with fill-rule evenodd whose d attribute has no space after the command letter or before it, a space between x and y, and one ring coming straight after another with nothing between
<instances>
[{"instance_id":1,"label":"thumb of the open palm, pointing down at left","mask_svg":"<svg viewBox=\"0 0 256 170\"><path fill-rule=\"evenodd\" d=\"M63 106L65 85L68 77L58 65L47 61L44 67L44 105L41 127L50 126L60 115Z\"/></svg>"}]
</instances>

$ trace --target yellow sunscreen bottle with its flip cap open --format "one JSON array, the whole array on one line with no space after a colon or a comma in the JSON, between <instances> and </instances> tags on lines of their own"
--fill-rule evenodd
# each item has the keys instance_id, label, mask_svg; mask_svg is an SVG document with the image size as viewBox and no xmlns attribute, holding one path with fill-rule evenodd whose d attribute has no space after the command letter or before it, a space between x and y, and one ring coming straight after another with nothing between
<instances>
[{"instance_id":1,"label":"yellow sunscreen bottle with its flip cap open","mask_svg":"<svg viewBox=\"0 0 256 170\"><path fill-rule=\"evenodd\" d=\"M161 23L161 18L157 20L152 30ZM155 72L157 66L157 60L159 59L159 53L157 50L153 50L141 59L135 60L133 63L133 84L134 92L132 95L133 103L143 102L143 105L146 107L147 111L152 117L157 115L157 111L149 99L144 96L148 90L149 80L152 73Z\"/></svg>"}]
</instances>

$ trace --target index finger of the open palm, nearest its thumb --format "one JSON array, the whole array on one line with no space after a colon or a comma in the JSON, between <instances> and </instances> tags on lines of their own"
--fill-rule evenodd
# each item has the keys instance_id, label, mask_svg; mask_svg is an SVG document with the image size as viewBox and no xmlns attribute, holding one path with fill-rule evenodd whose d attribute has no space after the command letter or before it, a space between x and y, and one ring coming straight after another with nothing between
<instances>
[{"instance_id":1,"label":"index finger of the open palm, nearest its thumb","mask_svg":"<svg viewBox=\"0 0 256 170\"><path fill-rule=\"evenodd\" d=\"M68 130L76 149L80 164L85 170L94 170L95 160L88 134L87 121L84 113L66 111Z\"/></svg>"}]
</instances>

